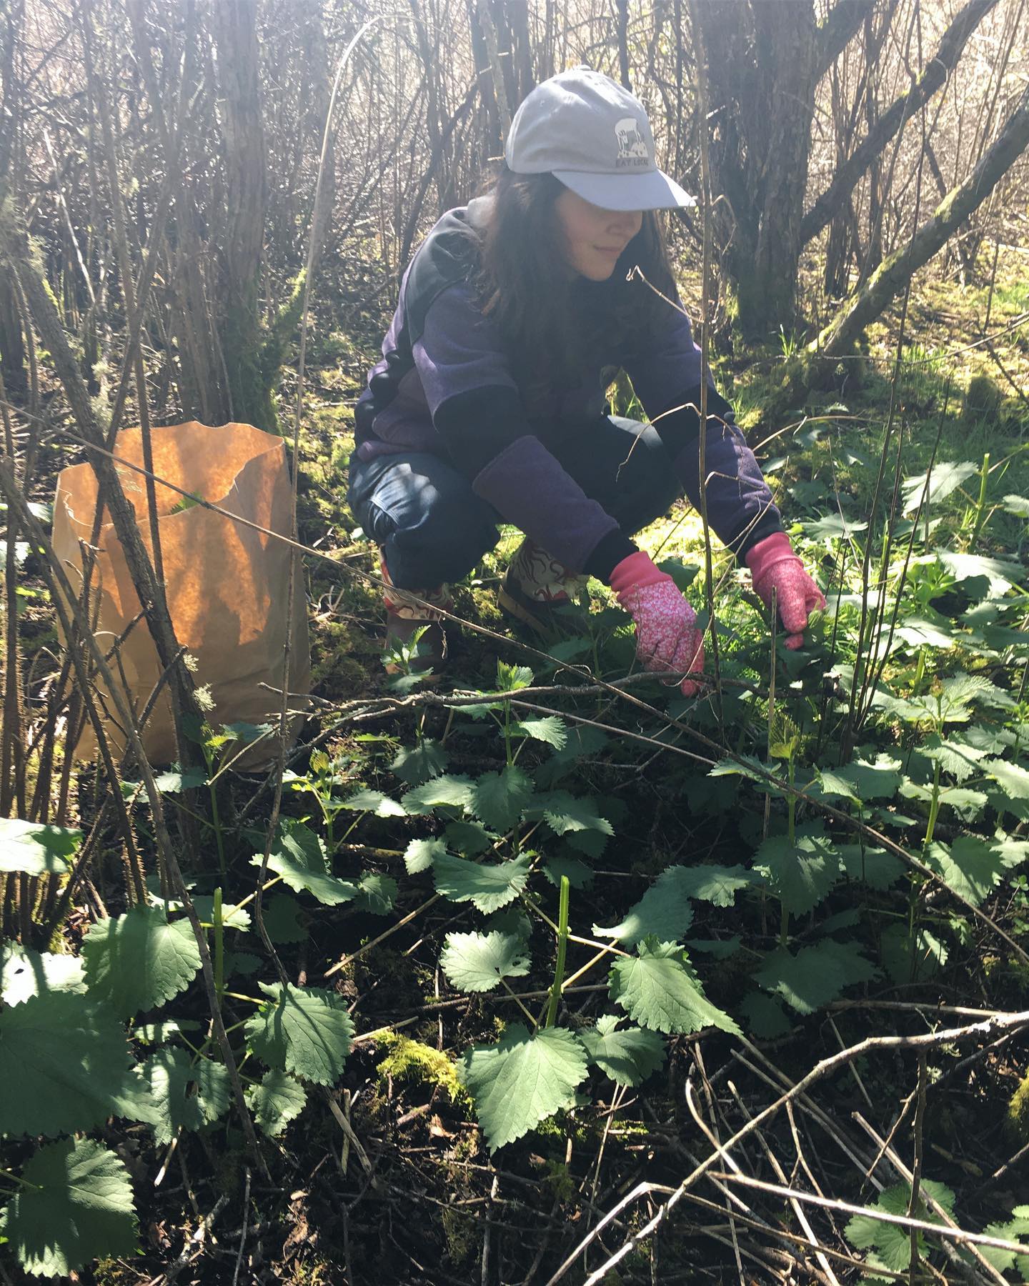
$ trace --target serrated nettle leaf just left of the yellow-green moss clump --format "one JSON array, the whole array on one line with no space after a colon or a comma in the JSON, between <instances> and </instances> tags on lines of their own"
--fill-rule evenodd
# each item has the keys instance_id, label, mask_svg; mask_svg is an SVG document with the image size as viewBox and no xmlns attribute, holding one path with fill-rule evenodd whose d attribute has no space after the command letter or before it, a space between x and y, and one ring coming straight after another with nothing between
<instances>
[{"instance_id":1,"label":"serrated nettle leaf just left of the yellow-green moss clump","mask_svg":"<svg viewBox=\"0 0 1029 1286\"><path fill-rule=\"evenodd\" d=\"M316 1085L334 1084L342 1075L354 1037L343 998L314 986L279 983L260 986L269 1001L247 1019L244 1030L251 1049L269 1067L292 1071Z\"/></svg>"}]
</instances>

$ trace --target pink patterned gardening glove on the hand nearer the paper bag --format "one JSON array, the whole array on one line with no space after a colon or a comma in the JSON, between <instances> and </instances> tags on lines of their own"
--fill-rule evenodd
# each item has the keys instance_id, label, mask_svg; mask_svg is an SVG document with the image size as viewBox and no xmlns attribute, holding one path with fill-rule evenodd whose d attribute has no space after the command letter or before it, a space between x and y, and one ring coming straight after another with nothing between
<instances>
[{"instance_id":1,"label":"pink patterned gardening glove on the hand nearer the paper bag","mask_svg":"<svg viewBox=\"0 0 1029 1286\"><path fill-rule=\"evenodd\" d=\"M611 588L635 621L635 655L646 670L696 674L704 669L697 613L650 554L639 550L623 558L611 572ZM692 697L700 685L683 679L682 691L684 697Z\"/></svg>"}]
</instances>

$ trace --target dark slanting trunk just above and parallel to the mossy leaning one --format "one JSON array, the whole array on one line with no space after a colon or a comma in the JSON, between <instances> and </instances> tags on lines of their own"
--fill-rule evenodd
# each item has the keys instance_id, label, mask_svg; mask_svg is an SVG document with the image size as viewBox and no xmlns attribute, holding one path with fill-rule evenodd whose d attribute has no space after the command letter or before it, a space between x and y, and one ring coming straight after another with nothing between
<instances>
[{"instance_id":1,"label":"dark slanting trunk just above and parallel to the mossy leaning one","mask_svg":"<svg viewBox=\"0 0 1029 1286\"><path fill-rule=\"evenodd\" d=\"M945 84L948 75L957 66L969 37L996 4L997 0L969 0L940 37L935 55L929 60L918 80L880 116L875 127L866 135L864 141L836 171L832 183L804 216L800 225L801 244L806 244L822 231L832 216L842 208L858 180L880 156L886 143Z\"/></svg>"}]
</instances>

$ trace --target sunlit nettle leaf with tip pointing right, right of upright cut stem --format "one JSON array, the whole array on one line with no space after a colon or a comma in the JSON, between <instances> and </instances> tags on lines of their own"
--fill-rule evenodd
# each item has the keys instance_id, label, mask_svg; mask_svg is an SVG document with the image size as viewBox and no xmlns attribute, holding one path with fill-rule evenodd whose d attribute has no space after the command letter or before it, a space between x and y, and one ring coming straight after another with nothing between
<instances>
[{"instance_id":1,"label":"sunlit nettle leaf with tip pointing right, right of upright cut stem","mask_svg":"<svg viewBox=\"0 0 1029 1286\"><path fill-rule=\"evenodd\" d=\"M635 957L612 964L611 999L633 1021L656 1031L686 1033L713 1026L740 1035L736 1021L705 997L686 959L686 952L674 943L644 937Z\"/></svg>"}]
</instances>

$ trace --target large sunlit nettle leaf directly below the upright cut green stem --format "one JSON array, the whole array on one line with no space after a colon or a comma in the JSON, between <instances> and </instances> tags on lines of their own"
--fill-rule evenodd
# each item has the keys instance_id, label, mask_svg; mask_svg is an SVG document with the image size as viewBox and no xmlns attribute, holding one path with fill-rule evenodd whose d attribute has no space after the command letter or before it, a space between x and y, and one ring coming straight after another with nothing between
<instances>
[{"instance_id":1,"label":"large sunlit nettle leaf directly below the upright cut green stem","mask_svg":"<svg viewBox=\"0 0 1029 1286\"><path fill-rule=\"evenodd\" d=\"M458 1065L490 1152L566 1107L585 1080L583 1046L562 1028L534 1035L512 1022L495 1046L472 1046Z\"/></svg>"}]
</instances>

